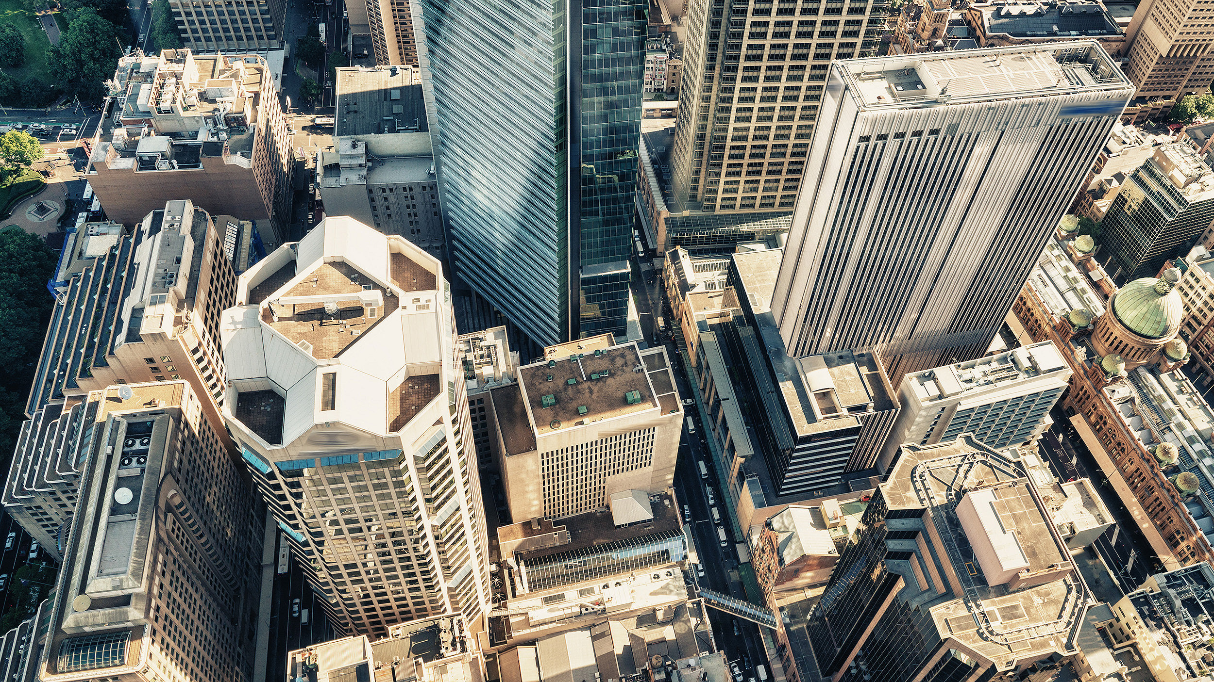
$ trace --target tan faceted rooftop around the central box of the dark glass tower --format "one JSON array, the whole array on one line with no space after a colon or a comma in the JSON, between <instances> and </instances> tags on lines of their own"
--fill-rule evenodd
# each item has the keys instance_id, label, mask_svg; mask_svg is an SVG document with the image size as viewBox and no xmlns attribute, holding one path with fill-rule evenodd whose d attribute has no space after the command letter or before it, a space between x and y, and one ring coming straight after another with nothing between
<instances>
[{"instance_id":1,"label":"tan faceted rooftop around the central box of the dark glass tower","mask_svg":"<svg viewBox=\"0 0 1214 682\"><path fill-rule=\"evenodd\" d=\"M880 490L890 510L929 510L927 523L954 549L946 561L964 591L930 608L942 637L999 664L1074 648L1089 595L1077 572L1067 570L1066 545L1019 465L972 439L903 447ZM1027 561L1023 570L1057 578L1016 590L988 585L972 544L983 539L969 536L958 516L959 501L976 491L992 498L998 525L1015 538Z\"/></svg>"}]
</instances>

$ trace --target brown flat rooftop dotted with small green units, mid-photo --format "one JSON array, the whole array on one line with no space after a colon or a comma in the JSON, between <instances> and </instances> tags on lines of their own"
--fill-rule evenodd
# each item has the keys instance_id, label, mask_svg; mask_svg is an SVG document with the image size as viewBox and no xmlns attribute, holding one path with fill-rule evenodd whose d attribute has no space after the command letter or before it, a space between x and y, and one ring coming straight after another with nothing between
<instances>
[{"instance_id":1,"label":"brown flat rooftop dotted with small green units, mid-photo","mask_svg":"<svg viewBox=\"0 0 1214 682\"><path fill-rule=\"evenodd\" d=\"M642 371L634 371L636 368ZM658 408L643 369L636 345L630 343L526 365L518 369L518 380L526 387L535 430L543 436Z\"/></svg>"}]
</instances>

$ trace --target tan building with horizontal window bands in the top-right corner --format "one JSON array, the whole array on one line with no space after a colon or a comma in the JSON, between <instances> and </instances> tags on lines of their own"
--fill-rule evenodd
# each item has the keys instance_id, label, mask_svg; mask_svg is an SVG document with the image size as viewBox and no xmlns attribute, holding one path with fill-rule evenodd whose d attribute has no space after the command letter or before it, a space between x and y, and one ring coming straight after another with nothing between
<instances>
[{"instance_id":1,"label":"tan building with horizontal window bands in the top-right corner","mask_svg":"<svg viewBox=\"0 0 1214 682\"><path fill-rule=\"evenodd\" d=\"M1125 29L1125 74L1144 100L1204 92L1214 80L1214 25L1198 0L1147 0Z\"/></svg>"}]
</instances>

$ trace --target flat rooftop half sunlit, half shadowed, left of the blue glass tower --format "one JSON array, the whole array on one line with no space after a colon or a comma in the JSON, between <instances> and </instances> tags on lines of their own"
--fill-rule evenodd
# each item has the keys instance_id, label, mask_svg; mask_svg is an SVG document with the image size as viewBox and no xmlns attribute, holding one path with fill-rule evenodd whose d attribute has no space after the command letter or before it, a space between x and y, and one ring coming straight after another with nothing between
<instances>
[{"instance_id":1,"label":"flat rooftop half sunlit, half shadowed, left of the blue glass tower","mask_svg":"<svg viewBox=\"0 0 1214 682\"><path fill-rule=\"evenodd\" d=\"M335 137L430 130L416 67L339 68L336 95Z\"/></svg>"}]
</instances>

